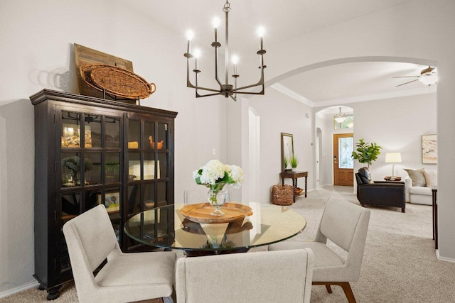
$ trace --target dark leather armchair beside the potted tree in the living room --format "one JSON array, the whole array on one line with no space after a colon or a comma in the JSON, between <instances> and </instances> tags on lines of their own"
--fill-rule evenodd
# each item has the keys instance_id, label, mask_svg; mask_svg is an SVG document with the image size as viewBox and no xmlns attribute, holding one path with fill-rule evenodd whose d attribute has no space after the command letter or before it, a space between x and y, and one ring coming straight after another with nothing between
<instances>
[{"instance_id":1,"label":"dark leather armchair beside the potted tree in the living room","mask_svg":"<svg viewBox=\"0 0 455 303\"><path fill-rule=\"evenodd\" d=\"M373 206L400 207L406 212L405 182L399 181L373 181L368 180L369 172L360 168L355 173L357 180L357 199L360 204Z\"/></svg>"}]
</instances>

